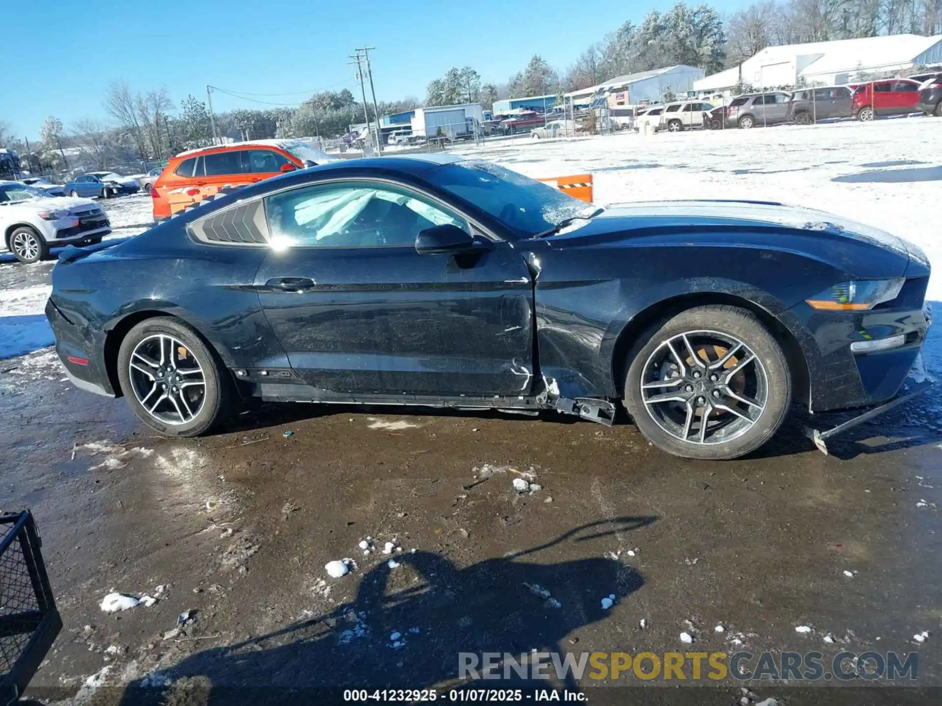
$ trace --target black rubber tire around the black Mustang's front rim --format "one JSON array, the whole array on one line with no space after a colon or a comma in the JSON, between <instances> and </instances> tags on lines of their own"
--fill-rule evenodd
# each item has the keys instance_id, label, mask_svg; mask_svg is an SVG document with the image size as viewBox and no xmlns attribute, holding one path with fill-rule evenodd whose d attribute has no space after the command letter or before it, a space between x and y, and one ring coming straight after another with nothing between
<instances>
[{"instance_id":1,"label":"black rubber tire around the black Mustang's front rim","mask_svg":"<svg viewBox=\"0 0 942 706\"><path fill-rule=\"evenodd\" d=\"M688 426L681 429L680 436L665 430L664 426L656 419L658 410L664 408L657 408L656 404L652 404L650 399L648 400L648 404L645 404L642 398L642 377L651 375L652 371L655 369L654 367L648 367L649 361L651 365L655 367L658 366L656 354L658 354L659 351L667 350L663 347L665 342L671 341L672 338L682 333L688 334L689 338L695 341L696 339L690 336L690 334L696 331L705 331L705 329L707 332L716 332L727 338L738 340L741 344L745 345L749 351L755 354L755 361L757 361L758 364L744 364L741 375L749 375L749 373L746 372L746 368L749 365L753 366L752 369L755 371L756 377L759 377L761 373L764 372L764 376L761 376L763 382L760 383L763 392L756 395L754 399L754 401L762 401L762 399L764 399L764 405L762 409L757 412L757 416L755 416L752 425L744 425L743 422L739 421L739 417L732 416L730 412L719 411L718 413L716 409L713 409L712 412L708 412L707 418L715 423L716 426L714 426L714 431L710 432L710 422L708 422L707 435L716 434L718 430L721 434L726 433L722 431L723 425L726 425L725 428L730 438L723 441L721 436L719 441L701 443L690 436L690 432L693 431L693 425L690 425L690 423L688 423ZM709 336L707 335L706 338L709 338ZM692 347L696 348L697 346L693 345ZM721 352L728 352L733 346L730 345L729 349L726 351L723 351L723 348L713 347L716 351L715 355L719 357L722 354ZM700 359L707 360L704 358L707 350L708 346L697 351L698 358L696 360L698 362L700 362ZM686 357L687 364L691 371L690 375L697 375L699 368L698 366L690 364L693 360L690 355L684 353L681 355ZM712 358L708 360L713 361ZM734 361L733 367L735 368L737 359L734 357L731 360ZM646 367L648 367L647 370L645 369ZM723 375L725 369L732 371L732 368L729 368L728 365L721 365L715 372ZM707 383L707 373L712 377L713 372L714 371L706 370L704 373L701 373L700 376L697 376L701 377L699 381L691 380L691 382L700 386L709 385L712 387L711 382ZM658 373L658 375L660 375L660 373ZM736 375L739 374L730 372L731 378L728 384L724 385L727 390L731 389L731 386L734 386L733 380L736 379ZM663 377L658 377L656 381L659 381L659 379L663 379ZM723 383L718 384L722 385ZM692 401L694 397L698 400L709 401L711 399L710 391L693 390L692 384L690 386L677 385L664 386L662 388L658 387L658 390L668 390L669 392L676 390L681 392L681 387L683 387L683 393L690 393L690 401ZM702 393L703 396L698 396L700 393ZM746 398L752 397L750 393L743 393L741 389L739 393ZM729 404L726 398L721 399L720 402L727 405ZM658 404L674 404L674 406L679 406L681 403ZM658 448L674 456L712 460L745 456L771 439L785 420L790 404L791 376L788 372L788 361L785 352L782 350L782 346L778 344L771 332L766 329L754 313L739 309L738 307L711 304L688 309L685 312L677 313L667 319L662 319L639 336L638 344L635 345L628 356L628 372L625 376L625 408L634 420L635 425L638 426L648 441L651 441L658 446ZM733 404L733 406L736 407L736 404ZM758 407L758 405L755 405L755 407ZM652 408L656 408L655 411L651 411ZM685 407L685 409L688 408ZM671 413L674 414L674 412ZM687 417L687 414L690 414L690 417ZM710 416L710 414L715 416ZM681 416L685 418L685 421L687 419L693 422L698 421L696 420L695 412L691 413L688 411L681 413ZM703 416L701 414L701 419L702 418ZM663 422L662 418L661 422ZM740 427L740 431L737 431L737 426ZM688 429L690 429L690 431L688 431ZM690 439L691 441L685 441L685 439Z\"/></svg>"}]
</instances>

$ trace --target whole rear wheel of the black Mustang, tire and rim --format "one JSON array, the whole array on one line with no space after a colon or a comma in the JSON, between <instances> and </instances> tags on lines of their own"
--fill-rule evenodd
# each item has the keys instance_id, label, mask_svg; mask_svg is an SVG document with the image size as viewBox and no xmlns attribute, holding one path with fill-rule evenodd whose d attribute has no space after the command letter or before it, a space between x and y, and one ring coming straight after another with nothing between
<instances>
[{"instance_id":1,"label":"whole rear wheel of the black Mustang, tire and rim","mask_svg":"<svg viewBox=\"0 0 942 706\"><path fill-rule=\"evenodd\" d=\"M140 322L122 341L118 377L138 419L169 437L195 437L230 411L232 378L186 324L159 316Z\"/></svg>"}]
</instances>

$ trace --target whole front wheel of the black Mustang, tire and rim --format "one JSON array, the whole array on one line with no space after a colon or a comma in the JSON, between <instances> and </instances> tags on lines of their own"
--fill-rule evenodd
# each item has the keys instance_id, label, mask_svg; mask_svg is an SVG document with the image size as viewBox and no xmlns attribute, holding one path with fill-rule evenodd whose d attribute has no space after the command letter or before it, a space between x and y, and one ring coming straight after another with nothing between
<instances>
[{"instance_id":1,"label":"whole front wheel of the black Mustang, tire and rim","mask_svg":"<svg viewBox=\"0 0 942 706\"><path fill-rule=\"evenodd\" d=\"M639 337L625 408L642 434L674 456L736 458L785 420L791 377L782 347L754 313L708 305Z\"/></svg>"}]
</instances>

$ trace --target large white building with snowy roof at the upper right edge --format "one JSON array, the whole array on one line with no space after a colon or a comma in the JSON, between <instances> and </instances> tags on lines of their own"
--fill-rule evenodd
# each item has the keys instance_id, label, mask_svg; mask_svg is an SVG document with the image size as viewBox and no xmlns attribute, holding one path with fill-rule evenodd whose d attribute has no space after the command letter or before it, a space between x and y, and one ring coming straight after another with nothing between
<instances>
[{"instance_id":1,"label":"large white building with snowy roof at the upper right edge","mask_svg":"<svg viewBox=\"0 0 942 706\"><path fill-rule=\"evenodd\" d=\"M859 72L894 74L942 63L942 35L899 34L766 47L739 66L695 81L697 95L728 94L742 79L753 88L853 82Z\"/></svg>"}]
</instances>

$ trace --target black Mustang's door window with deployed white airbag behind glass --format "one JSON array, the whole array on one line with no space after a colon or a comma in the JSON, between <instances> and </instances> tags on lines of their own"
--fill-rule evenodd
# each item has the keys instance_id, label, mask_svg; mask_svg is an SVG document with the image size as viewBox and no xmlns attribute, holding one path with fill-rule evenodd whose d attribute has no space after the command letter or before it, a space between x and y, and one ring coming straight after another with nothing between
<instances>
[{"instance_id":1,"label":"black Mustang's door window with deployed white airbag behind glass","mask_svg":"<svg viewBox=\"0 0 942 706\"><path fill-rule=\"evenodd\" d=\"M369 182L314 185L265 200L273 248L412 247L419 231L451 223L471 233L462 217L394 185Z\"/></svg>"}]
</instances>

